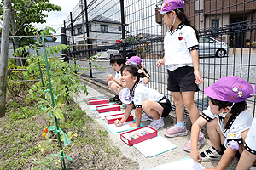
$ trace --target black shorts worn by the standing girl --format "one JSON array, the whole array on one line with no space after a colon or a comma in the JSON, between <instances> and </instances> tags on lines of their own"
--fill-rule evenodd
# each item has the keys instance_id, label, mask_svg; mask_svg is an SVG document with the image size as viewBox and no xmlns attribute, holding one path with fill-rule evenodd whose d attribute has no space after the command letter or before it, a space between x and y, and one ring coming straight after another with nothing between
<instances>
[{"instance_id":1,"label":"black shorts worn by the standing girl","mask_svg":"<svg viewBox=\"0 0 256 170\"><path fill-rule=\"evenodd\" d=\"M199 91L195 84L194 68L190 66L179 67L174 71L168 70L167 90L171 92Z\"/></svg>"}]
</instances>

